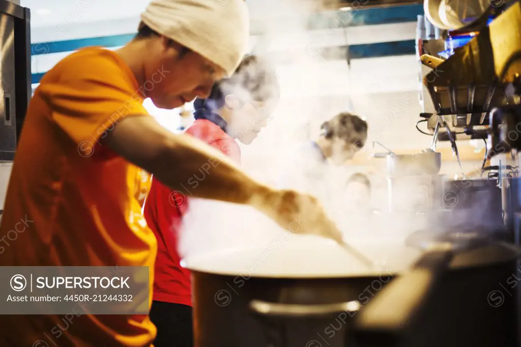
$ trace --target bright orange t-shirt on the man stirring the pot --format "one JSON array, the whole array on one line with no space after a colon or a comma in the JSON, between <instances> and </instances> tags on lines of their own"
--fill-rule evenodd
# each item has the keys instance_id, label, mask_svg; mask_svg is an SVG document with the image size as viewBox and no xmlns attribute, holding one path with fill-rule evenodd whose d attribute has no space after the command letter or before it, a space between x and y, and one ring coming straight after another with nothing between
<instances>
[{"instance_id":1,"label":"bright orange t-shirt on the man stirring the pot","mask_svg":"<svg viewBox=\"0 0 521 347\"><path fill-rule=\"evenodd\" d=\"M102 48L45 74L23 126L0 239L20 221L26 227L0 243L1 266L148 266L152 302L157 243L141 213L150 175L98 142L117 119L148 115L139 90L125 62ZM155 334L147 315L0 316L0 346L150 346Z\"/></svg>"}]
</instances>

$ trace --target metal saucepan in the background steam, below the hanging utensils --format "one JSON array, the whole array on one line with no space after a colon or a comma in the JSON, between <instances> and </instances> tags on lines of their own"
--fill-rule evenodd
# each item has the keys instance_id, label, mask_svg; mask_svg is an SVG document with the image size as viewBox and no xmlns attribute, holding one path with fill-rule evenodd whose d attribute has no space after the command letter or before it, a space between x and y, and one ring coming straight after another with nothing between
<instances>
[{"instance_id":1,"label":"metal saucepan in the background steam, below the hanging utensils","mask_svg":"<svg viewBox=\"0 0 521 347\"><path fill-rule=\"evenodd\" d=\"M392 177L438 175L441 169L441 153L389 154L387 169Z\"/></svg>"}]
</instances>

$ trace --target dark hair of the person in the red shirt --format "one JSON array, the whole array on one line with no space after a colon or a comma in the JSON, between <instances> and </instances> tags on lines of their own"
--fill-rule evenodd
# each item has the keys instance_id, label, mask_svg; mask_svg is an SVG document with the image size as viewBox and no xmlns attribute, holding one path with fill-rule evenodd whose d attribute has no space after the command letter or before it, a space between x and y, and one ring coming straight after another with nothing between
<instances>
[{"instance_id":1,"label":"dark hair of the person in the red shirt","mask_svg":"<svg viewBox=\"0 0 521 347\"><path fill-rule=\"evenodd\" d=\"M205 98L196 98L195 109L210 111L225 105L226 95L237 94L243 102L276 102L280 97L280 86L275 71L266 61L255 55L246 56L230 78L216 82Z\"/></svg>"}]
</instances>

